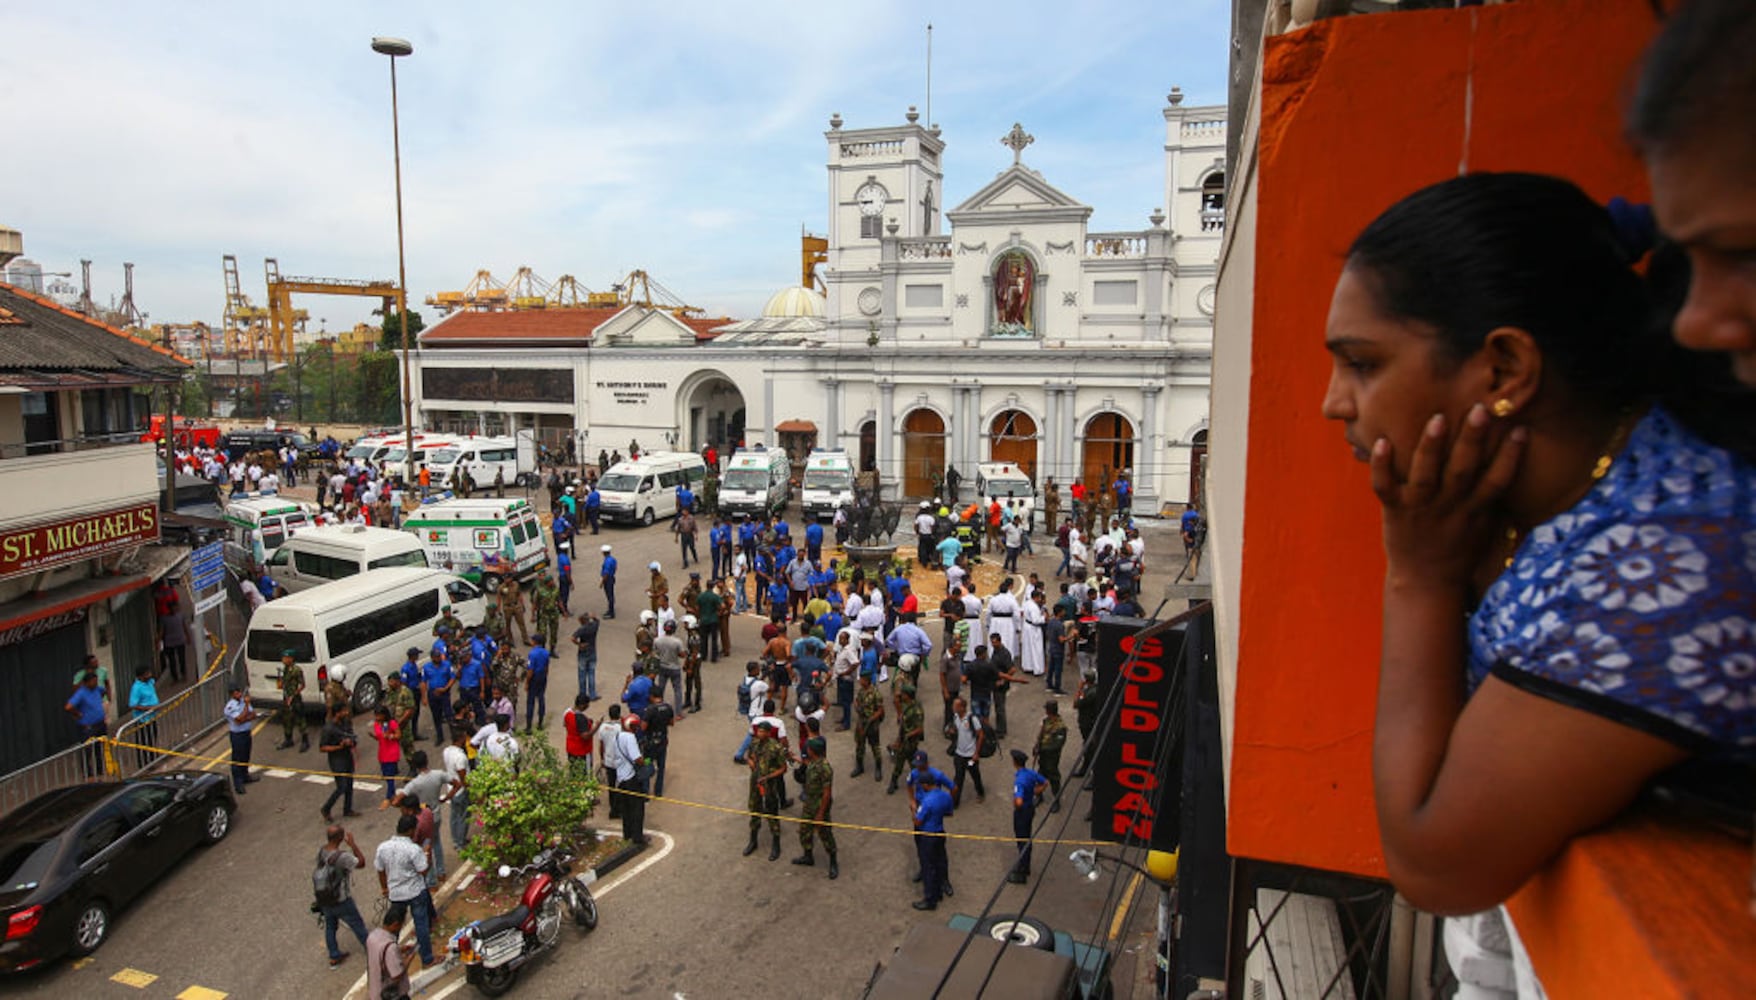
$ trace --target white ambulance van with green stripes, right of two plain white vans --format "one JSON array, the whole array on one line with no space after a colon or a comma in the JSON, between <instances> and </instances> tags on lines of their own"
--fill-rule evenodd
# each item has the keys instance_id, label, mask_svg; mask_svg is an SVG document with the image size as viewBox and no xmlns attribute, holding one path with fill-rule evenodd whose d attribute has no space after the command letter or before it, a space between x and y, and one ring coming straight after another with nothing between
<instances>
[{"instance_id":1,"label":"white ambulance van with green stripes, right of two plain white vans","mask_svg":"<svg viewBox=\"0 0 1756 1000\"><path fill-rule=\"evenodd\" d=\"M427 564L472 580L490 592L500 589L500 575L520 582L548 569L548 545L536 508L525 499L443 499L421 504L402 518L427 552ZM497 564L495 573L483 573Z\"/></svg>"}]
</instances>

